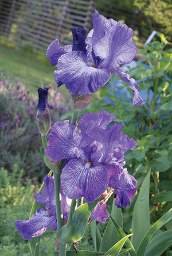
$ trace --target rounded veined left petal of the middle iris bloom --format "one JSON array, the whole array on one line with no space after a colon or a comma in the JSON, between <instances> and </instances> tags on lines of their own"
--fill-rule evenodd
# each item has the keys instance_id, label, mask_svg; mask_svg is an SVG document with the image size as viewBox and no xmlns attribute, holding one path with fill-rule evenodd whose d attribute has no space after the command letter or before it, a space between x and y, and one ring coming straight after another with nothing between
<instances>
[{"instance_id":1,"label":"rounded veined left petal of the middle iris bloom","mask_svg":"<svg viewBox=\"0 0 172 256\"><path fill-rule=\"evenodd\" d=\"M48 147L45 148L46 154L53 161L60 161L65 158L74 158L81 155L79 148L81 132L76 125L70 125L69 120L57 122L51 128L52 132L46 135Z\"/></svg>"}]
</instances>

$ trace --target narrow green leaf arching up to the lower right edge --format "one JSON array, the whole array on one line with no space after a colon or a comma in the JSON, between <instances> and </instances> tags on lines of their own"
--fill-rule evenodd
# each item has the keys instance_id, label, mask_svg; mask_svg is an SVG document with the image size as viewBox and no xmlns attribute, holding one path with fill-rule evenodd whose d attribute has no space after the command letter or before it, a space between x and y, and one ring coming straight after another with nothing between
<instances>
[{"instance_id":1,"label":"narrow green leaf arching up to the lower right edge","mask_svg":"<svg viewBox=\"0 0 172 256\"><path fill-rule=\"evenodd\" d=\"M159 220L157 220L153 226L148 230L147 234L144 236L142 242L140 243L138 250L137 250L137 255L138 256L143 256L145 255L146 247L148 243L150 242L152 236L161 228L164 224L166 224L169 220L172 218L172 208L165 213Z\"/></svg>"}]
</instances>

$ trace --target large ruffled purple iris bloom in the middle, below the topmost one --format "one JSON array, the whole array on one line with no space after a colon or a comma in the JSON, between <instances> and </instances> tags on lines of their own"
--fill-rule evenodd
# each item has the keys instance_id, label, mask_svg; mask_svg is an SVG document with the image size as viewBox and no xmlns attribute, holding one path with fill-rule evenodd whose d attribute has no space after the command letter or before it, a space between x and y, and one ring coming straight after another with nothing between
<instances>
[{"instance_id":1,"label":"large ruffled purple iris bloom in the middle, below the topmost one","mask_svg":"<svg viewBox=\"0 0 172 256\"><path fill-rule=\"evenodd\" d=\"M115 189L118 207L130 204L136 192L136 180L126 169L124 154L134 150L136 142L124 135L122 125L114 123L114 114L105 110L88 112L81 117L80 128L69 121L57 122L46 135L46 154L52 161L67 159L61 174L63 193L68 198L85 198L93 202L108 186Z\"/></svg>"}]
</instances>

